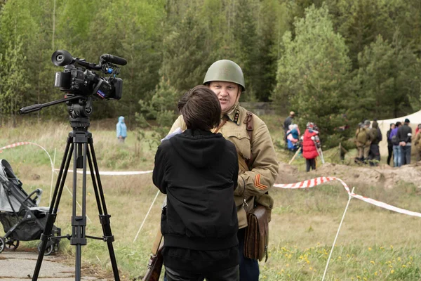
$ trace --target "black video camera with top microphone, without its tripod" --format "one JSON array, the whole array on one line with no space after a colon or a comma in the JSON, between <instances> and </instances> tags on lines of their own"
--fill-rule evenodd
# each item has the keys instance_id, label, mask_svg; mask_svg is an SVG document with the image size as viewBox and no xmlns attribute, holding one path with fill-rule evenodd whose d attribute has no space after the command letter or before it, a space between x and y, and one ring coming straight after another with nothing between
<instances>
[{"instance_id":1,"label":"black video camera with top microphone, without its tripod","mask_svg":"<svg viewBox=\"0 0 421 281\"><path fill-rule=\"evenodd\" d=\"M88 63L81 58L73 58L65 50L58 50L51 56L56 66L64 66L65 70L55 73L54 86L60 91L80 96L93 96L105 100L119 100L123 93L123 80L116 78L120 68L116 65L126 65L127 61L116 55L100 56L100 63ZM92 70L101 70L108 77L101 77Z\"/></svg>"}]
</instances>

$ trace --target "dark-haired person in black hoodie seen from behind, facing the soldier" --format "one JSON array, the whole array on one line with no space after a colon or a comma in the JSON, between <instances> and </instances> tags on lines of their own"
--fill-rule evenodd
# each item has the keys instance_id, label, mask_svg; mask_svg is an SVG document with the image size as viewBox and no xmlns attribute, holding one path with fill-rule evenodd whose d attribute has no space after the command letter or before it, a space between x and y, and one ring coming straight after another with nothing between
<instances>
[{"instance_id":1,"label":"dark-haired person in black hoodie seen from behind, facing the soldier","mask_svg":"<svg viewBox=\"0 0 421 281\"><path fill-rule=\"evenodd\" d=\"M159 145L153 172L154 185L167 195L161 214L166 278L238 281L236 148L210 131L220 124L221 107L208 87L185 93L178 109L187 129Z\"/></svg>"}]
</instances>

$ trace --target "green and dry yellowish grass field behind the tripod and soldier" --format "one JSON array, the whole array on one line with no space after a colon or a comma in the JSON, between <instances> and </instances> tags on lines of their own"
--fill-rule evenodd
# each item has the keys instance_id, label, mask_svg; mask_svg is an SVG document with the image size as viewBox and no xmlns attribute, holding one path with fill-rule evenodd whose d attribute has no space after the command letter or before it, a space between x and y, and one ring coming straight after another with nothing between
<instances>
[{"instance_id":1,"label":"green and dry yellowish grass field behind the tripod and soldier","mask_svg":"<svg viewBox=\"0 0 421 281\"><path fill-rule=\"evenodd\" d=\"M263 118L272 138L282 139L278 126L280 117ZM114 131L93 126L93 140L101 171L139 171L153 168L156 146L137 143L133 132L128 132L126 143L117 143ZM65 148L67 124L31 124L16 129L1 128L1 146L17 141L33 141L42 145L58 168ZM147 132L147 136L151 136ZM276 153L280 161L288 162L290 155L281 148ZM330 153L326 152L326 157ZM41 206L48 206L51 188L51 165L46 153L33 145L4 150L0 158L11 163L27 191L44 190ZM303 171L304 162L294 165ZM39 177L38 177L39 176ZM303 175L301 175L303 176ZM304 175L305 176L305 175ZM54 178L55 183L56 176ZM107 209L111 214L111 228L115 236L114 249L122 280L133 280L145 273L149 251L159 231L159 195L138 240L133 239L156 195L152 175L102 176ZM98 209L88 176L86 228L88 235L102 236ZM353 183L348 183L354 186ZM78 187L81 175L78 176ZM421 211L420 189L408 183L398 183L393 189L381 186L355 184L355 192L397 207ZM67 177L67 188L72 189L72 176ZM62 233L70 233L72 196L65 188L60 200L56 226ZM79 188L80 190L80 188ZM321 280L340 219L347 204L347 194L339 183L321 185L309 190L272 190L275 207L269 224L269 260L260 263L260 280ZM80 202L80 191L77 197ZM77 209L80 212L79 208ZM360 200L352 200L333 251L325 280L421 280L421 218L396 214L373 207ZM0 235L3 233L0 229ZM38 242L22 242L22 248L34 248ZM60 256L74 262L74 247L62 240ZM82 248L84 267L99 266L111 273L106 244L88 240ZM42 271L42 268L41 268Z\"/></svg>"}]
</instances>

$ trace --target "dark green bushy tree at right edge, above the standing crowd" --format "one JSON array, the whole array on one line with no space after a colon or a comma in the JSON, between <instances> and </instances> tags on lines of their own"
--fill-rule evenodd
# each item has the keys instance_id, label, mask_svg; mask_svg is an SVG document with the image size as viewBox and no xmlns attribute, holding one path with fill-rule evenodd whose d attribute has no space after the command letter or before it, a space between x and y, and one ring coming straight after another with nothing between
<instances>
[{"instance_id":1,"label":"dark green bushy tree at right edge, above the standing crowd","mask_svg":"<svg viewBox=\"0 0 421 281\"><path fill-rule=\"evenodd\" d=\"M401 48L399 40L394 45L377 40L359 53L359 70L354 77L356 96L355 112L368 118L398 117L409 98L420 94L419 63L408 48ZM414 110L417 110L416 108Z\"/></svg>"}]
</instances>

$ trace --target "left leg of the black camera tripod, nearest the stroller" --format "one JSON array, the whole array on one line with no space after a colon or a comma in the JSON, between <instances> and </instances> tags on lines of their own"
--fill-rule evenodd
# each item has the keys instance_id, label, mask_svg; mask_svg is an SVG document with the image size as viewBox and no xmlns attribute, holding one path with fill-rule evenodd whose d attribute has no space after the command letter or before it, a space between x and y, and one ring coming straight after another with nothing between
<instances>
[{"instance_id":1,"label":"left leg of the black camera tripod, nearest the stroller","mask_svg":"<svg viewBox=\"0 0 421 281\"><path fill-rule=\"evenodd\" d=\"M70 146L70 143L72 143L72 138L67 138L65 154L60 165L60 171L58 174L57 182L55 183L53 197L51 197L50 209L47 213L46 226L44 228L44 233L41 234L41 247L39 250L38 259L36 260L34 274L32 275L32 281L38 280L39 270L41 269L42 260L44 259L44 252L46 251L47 242L51 239L51 232L53 230L55 218L57 216L58 204L60 203L63 186L65 185L70 159L72 159L73 144Z\"/></svg>"}]
</instances>

